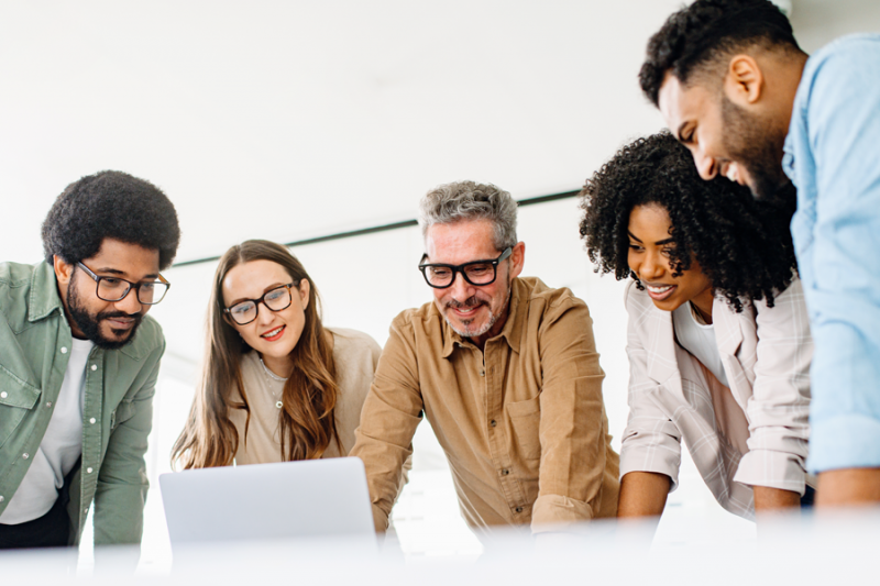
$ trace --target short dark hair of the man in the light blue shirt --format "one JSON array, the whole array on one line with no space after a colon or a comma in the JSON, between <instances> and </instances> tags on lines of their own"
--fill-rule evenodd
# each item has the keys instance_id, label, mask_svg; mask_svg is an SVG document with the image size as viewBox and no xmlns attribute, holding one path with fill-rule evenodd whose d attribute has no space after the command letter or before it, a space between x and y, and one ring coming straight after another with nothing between
<instances>
[{"instance_id":1,"label":"short dark hair of the man in the light blue shirt","mask_svg":"<svg viewBox=\"0 0 880 586\"><path fill-rule=\"evenodd\" d=\"M657 106L667 71L686 85L694 71L756 44L803 53L789 19L769 0L696 0L651 36L639 85Z\"/></svg>"}]
</instances>

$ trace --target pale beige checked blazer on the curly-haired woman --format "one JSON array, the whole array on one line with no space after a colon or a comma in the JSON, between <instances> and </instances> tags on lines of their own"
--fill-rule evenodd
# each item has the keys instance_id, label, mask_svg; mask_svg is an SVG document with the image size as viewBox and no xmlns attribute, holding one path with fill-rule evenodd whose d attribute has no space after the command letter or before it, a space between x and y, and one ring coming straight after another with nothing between
<instances>
[{"instance_id":1,"label":"pale beige checked blazer on the curly-haired woman","mask_svg":"<svg viewBox=\"0 0 880 586\"><path fill-rule=\"evenodd\" d=\"M674 490L683 439L718 504L735 515L755 517L751 486L803 495L813 340L801 281L772 308L757 301L736 313L716 299L712 321L729 389L678 344L672 313L635 281L624 299L630 411L620 476L666 474Z\"/></svg>"}]
</instances>

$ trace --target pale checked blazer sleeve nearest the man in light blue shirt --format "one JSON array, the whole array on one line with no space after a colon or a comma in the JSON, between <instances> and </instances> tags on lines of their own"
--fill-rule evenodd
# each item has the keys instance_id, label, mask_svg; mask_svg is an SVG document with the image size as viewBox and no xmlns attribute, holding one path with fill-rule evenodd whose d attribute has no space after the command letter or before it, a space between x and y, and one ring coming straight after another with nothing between
<instances>
[{"instance_id":1,"label":"pale checked blazer sleeve nearest the man in light blue shirt","mask_svg":"<svg viewBox=\"0 0 880 586\"><path fill-rule=\"evenodd\" d=\"M748 401L749 451L734 479L804 494L813 339L801 281L758 302L757 363Z\"/></svg>"}]
</instances>

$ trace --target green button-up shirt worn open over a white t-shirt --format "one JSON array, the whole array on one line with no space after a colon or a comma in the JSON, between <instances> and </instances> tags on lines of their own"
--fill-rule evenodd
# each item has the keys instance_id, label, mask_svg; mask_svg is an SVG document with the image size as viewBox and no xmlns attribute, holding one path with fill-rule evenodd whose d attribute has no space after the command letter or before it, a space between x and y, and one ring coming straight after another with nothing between
<instances>
[{"instance_id":1,"label":"green button-up shirt worn open over a white t-shirt","mask_svg":"<svg viewBox=\"0 0 880 586\"><path fill-rule=\"evenodd\" d=\"M70 325L46 263L0 263L0 513L43 441L70 356ZM95 543L139 543L148 483L144 453L165 339L145 317L119 350L89 354L82 457L67 479L70 543L95 501Z\"/></svg>"}]
</instances>

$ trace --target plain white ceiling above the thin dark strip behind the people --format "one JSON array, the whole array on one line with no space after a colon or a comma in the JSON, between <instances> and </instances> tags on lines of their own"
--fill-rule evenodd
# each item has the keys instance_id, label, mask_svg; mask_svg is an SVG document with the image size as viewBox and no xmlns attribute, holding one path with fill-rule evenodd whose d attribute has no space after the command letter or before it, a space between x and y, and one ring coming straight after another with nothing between
<instances>
[{"instance_id":1,"label":"plain white ceiling above the thin dark strip behind the people","mask_svg":"<svg viewBox=\"0 0 880 586\"><path fill-rule=\"evenodd\" d=\"M0 258L38 258L106 168L168 194L178 261L411 218L451 180L576 188L661 126L636 74L680 3L3 1Z\"/></svg>"}]
</instances>

